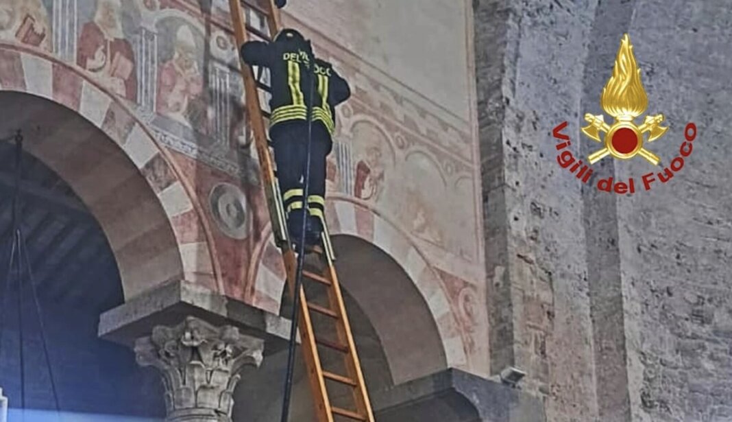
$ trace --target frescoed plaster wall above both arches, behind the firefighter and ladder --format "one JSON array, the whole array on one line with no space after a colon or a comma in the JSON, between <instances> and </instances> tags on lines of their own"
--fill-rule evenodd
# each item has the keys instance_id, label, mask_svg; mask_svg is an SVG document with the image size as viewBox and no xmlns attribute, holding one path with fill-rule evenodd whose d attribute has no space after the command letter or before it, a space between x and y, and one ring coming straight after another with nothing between
<instances>
[{"instance_id":1,"label":"frescoed plaster wall above both arches, behind the firefighter and ladder","mask_svg":"<svg viewBox=\"0 0 732 422\"><path fill-rule=\"evenodd\" d=\"M306 5L288 8L285 22L313 39L354 92L339 110L329 158L332 232L387 251L430 308L448 364L486 374L466 4L430 0L416 9L362 1L344 13L344 4L318 3L317 18L332 25L297 9ZM343 21L360 9L362 26ZM400 25L417 13L415 29ZM276 312L282 265L247 144L228 26L228 1L221 0L0 0L0 40L13 51L0 66L0 85L31 92L29 84L50 84L46 97L107 127L168 201L185 246L183 275ZM433 50L441 56L425 67ZM73 84L61 84L63 75L74 75ZM99 122L89 117L97 114ZM128 138L145 138L144 147ZM151 149L160 149L154 159ZM171 186L176 191L163 199Z\"/></svg>"}]
</instances>

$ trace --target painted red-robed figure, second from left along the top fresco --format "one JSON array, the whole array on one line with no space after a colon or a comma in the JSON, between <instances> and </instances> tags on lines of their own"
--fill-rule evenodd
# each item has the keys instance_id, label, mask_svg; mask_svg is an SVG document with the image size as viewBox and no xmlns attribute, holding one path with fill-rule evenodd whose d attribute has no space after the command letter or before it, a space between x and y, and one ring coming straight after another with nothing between
<instances>
[{"instance_id":1,"label":"painted red-robed figure, second from left along the top fresco","mask_svg":"<svg viewBox=\"0 0 732 422\"><path fill-rule=\"evenodd\" d=\"M81 29L76 62L116 95L137 100L135 53L124 38L121 0L97 0L94 18Z\"/></svg>"}]
</instances>

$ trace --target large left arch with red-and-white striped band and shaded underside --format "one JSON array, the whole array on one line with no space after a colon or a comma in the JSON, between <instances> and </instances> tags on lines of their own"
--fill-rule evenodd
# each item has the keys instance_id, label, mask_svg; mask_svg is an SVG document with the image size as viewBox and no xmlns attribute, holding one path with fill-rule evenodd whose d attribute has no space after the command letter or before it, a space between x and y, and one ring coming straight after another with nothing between
<instances>
[{"instance_id":1,"label":"large left arch with red-and-white striped band and shaded underside","mask_svg":"<svg viewBox=\"0 0 732 422\"><path fill-rule=\"evenodd\" d=\"M0 42L0 62L0 93L12 99L12 106L3 103L2 129L9 133L23 122L29 152L66 180L100 222L124 297L174 278L223 292L193 188L127 105L80 68L23 45ZM23 113L29 109L58 127L44 133ZM67 144L59 149L49 137L64 131Z\"/></svg>"}]
</instances>

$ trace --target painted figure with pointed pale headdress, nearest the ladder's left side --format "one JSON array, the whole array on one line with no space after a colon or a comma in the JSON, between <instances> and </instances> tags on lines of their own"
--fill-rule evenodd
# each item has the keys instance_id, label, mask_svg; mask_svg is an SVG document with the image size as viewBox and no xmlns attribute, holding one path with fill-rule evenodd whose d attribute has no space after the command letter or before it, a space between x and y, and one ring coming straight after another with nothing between
<instances>
[{"instance_id":1,"label":"painted figure with pointed pale headdress, nearest the ladder's left side","mask_svg":"<svg viewBox=\"0 0 732 422\"><path fill-rule=\"evenodd\" d=\"M197 54L193 31L182 23L173 40L173 56L159 70L157 112L206 132L207 108Z\"/></svg>"}]
</instances>

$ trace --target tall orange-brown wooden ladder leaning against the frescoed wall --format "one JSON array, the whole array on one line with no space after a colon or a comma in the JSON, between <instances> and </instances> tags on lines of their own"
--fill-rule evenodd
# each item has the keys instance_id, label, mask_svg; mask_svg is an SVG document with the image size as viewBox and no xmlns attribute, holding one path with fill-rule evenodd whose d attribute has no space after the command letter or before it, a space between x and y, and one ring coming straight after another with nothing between
<instances>
[{"instance_id":1,"label":"tall orange-brown wooden ladder leaning against the frescoed wall","mask_svg":"<svg viewBox=\"0 0 732 422\"><path fill-rule=\"evenodd\" d=\"M234 25L237 50L247 40L271 41L281 28L280 10L274 0L229 0L231 18ZM258 25L258 23L260 23ZM280 188L275 177L275 168L270 154L271 142L265 126L269 111L263 110L266 95L270 89L261 81L263 71L255 71L241 62L244 78L244 97L247 124L252 130L259 158L262 182L264 184L272 231L282 251L287 283L294 295L297 270L296 254L285 225ZM343 295L335 271L332 245L327 228L322 237L323 247L315 248L308 256L307 266L302 272L302 289L299 292L299 334L305 358L310 390L315 401L318 422L367 421L374 422L361 365L356 353L351 325L343 304ZM311 295L318 293L320 295ZM306 297L311 296L311 301ZM318 303L318 298L321 303ZM314 321L321 322L315 325ZM315 333L318 327L318 333ZM324 329L321 329L324 327ZM332 357L340 362L340 367L328 371L324 369L321 356ZM335 366L335 365L334 365ZM340 394L338 394L340 393ZM335 401L338 401L335 405ZM341 404L344 401L345 404Z\"/></svg>"}]
</instances>

